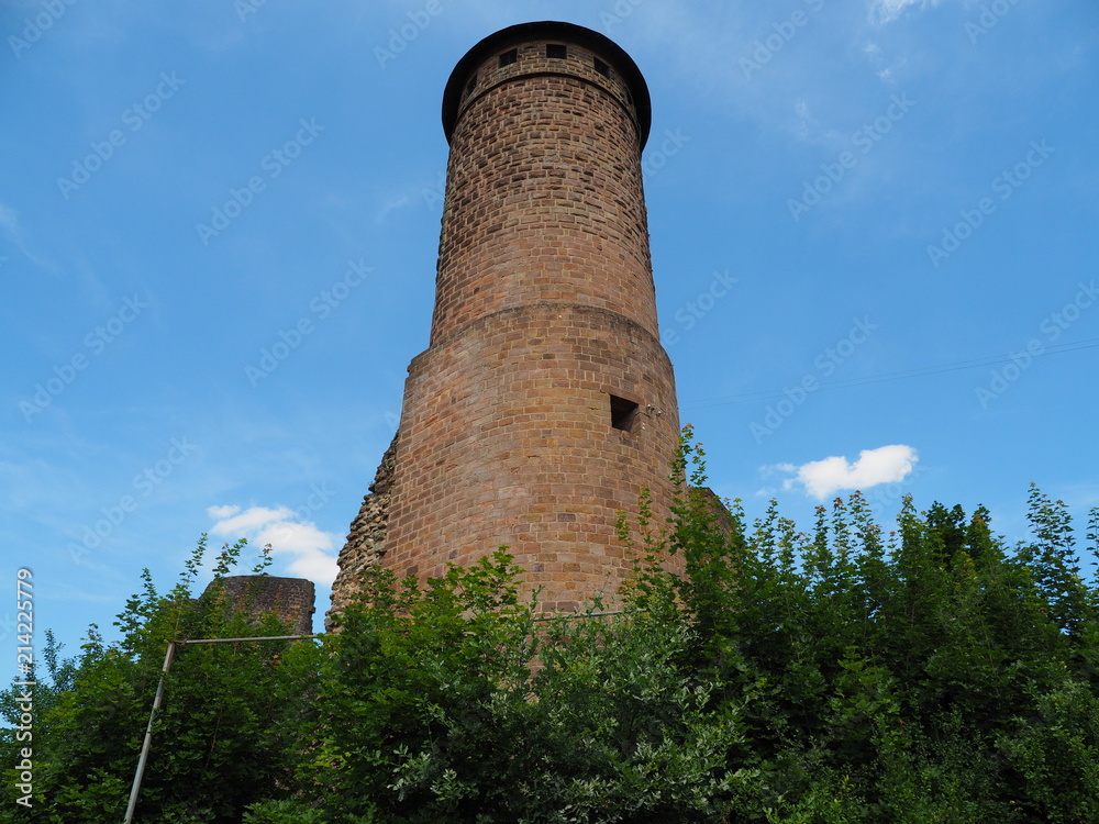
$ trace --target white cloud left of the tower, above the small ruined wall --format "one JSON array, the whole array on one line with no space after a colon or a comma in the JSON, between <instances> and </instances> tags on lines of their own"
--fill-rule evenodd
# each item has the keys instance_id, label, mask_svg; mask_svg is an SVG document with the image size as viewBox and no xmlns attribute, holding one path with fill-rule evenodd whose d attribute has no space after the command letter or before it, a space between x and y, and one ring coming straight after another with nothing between
<instances>
[{"instance_id":1,"label":"white cloud left of the tower, above the small ruined wall","mask_svg":"<svg viewBox=\"0 0 1099 824\"><path fill-rule=\"evenodd\" d=\"M245 537L257 547L270 544L271 555L287 575L322 586L335 580L340 536L302 520L288 506L252 506L243 512L240 506L210 506L207 513L217 522L210 528L214 535Z\"/></svg>"}]
</instances>

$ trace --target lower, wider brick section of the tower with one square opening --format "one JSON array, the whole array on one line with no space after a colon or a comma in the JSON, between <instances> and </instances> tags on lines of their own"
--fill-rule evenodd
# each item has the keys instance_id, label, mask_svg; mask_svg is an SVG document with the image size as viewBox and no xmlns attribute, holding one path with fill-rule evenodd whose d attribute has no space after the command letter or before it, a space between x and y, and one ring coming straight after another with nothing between
<instances>
[{"instance_id":1,"label":"lower, wider brick section of the tower with one square opening","mask_svg":"<svg viewBox=\"0 0 1099 824\"><path fill-rule=\"evenodd\" d=\"M630 432L611 396L632 400ZM508 545L546 609L612 593L629 566L618 510L642 485L668 514L678 443L659 342L619 314L537 304L500 312L412 363L386 563L439 576Z\"/></svg>"}]
</instances>

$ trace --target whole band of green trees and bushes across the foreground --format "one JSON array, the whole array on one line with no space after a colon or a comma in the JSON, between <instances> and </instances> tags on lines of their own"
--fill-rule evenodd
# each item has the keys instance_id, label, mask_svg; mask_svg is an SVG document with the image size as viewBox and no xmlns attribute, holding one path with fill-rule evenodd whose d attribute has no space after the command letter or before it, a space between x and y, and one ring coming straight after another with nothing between
<instances>
[{"instance_id":1,"label":"whole band of green trees and bushes across the foreground","mask_svg":"<svg viewBox=\"0 0 1099 824\"><path fill-rule=\"evenodd\" d=\"M185 648L138 821L1099 822L1099 511L1083 547L1036 488L1017 546L910 499L885 533L858 493L750 523L689 438L670 521L623 521L621 610L543 615L500 549L371 570L319 657ZM166 639L245 634L151 587L120 645L54 657L40 821L121 821Z\"/></svg>"}]
</instances>

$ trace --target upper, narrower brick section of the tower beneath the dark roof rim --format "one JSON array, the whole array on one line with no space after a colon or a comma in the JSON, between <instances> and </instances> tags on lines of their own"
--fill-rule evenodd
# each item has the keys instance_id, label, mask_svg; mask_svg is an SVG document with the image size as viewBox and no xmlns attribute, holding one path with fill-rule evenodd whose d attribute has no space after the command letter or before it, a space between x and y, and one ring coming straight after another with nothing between
<instances>
[{"instance_id":1,"label":"upper, narrower brick section of the tower beneath the dark roof rim","mask_svg":"<svg viewBox=\"0 0 1099 824\"><path fill-rule=\"evenodd\" d=\"M555 42L518 44L503 67L493 53L470 77L451 136L432 345L539 301L610 309L656 333L630 92L588 48L546 57Z\"/></svg>"}]
</instances>

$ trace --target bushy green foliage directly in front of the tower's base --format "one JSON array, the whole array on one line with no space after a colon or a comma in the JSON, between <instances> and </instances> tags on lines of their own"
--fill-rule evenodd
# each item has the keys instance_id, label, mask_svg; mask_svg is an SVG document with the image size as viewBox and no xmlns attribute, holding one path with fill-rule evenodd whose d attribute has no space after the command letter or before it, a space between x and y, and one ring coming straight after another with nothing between
<instances>
[{"instance_id":1,"label":"bushy green foliage directly in front of the tower's base","mask_svg":"<svg viewBox=\"0 0 1099 824\"><path fill-rule=\"evenodd\" d=\"M542 621L519 576L503 550L423 590L369 574L325 644L328 820L720 820L743 730L679 666L686 626L599 604Z\"/></svg>"}]
</instances>

